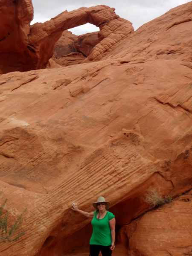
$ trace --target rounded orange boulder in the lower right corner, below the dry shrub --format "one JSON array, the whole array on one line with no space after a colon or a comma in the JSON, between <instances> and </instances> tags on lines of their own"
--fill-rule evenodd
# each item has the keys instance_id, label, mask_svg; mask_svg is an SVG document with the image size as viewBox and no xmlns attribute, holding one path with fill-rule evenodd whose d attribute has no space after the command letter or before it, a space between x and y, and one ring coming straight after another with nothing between
<instances>
[{"instance_id":1,"label":"rounded orange boulder in the lower right corner, below the dry shrub","mask_svg":"<svg viewBox=\"0 0 192 256\"><path fill-rule=\"evenodd\" d=\"M122 255L191 255L191 209L192 195L181 195L171 204L122 227L119 231Z\"/></svg>"}]
</instances>

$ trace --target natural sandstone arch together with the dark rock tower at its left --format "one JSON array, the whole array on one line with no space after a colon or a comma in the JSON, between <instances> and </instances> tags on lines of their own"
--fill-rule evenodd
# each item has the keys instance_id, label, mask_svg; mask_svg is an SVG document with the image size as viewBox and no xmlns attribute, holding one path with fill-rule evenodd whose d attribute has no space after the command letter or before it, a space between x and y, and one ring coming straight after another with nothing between
<instances>
[{"instance_id":1,"label":"natural sandstone arch together with the dark rock tower at its left","mask_svg":"<svg viewBox=\"0 0 192 256\"><path fill-rule=\"evenodd\" d=\"M94 51L91 57L101 59L109 48L113 49L134 30L131 23L119 18L114 10L104 5L82 7L30 26L33 18L31 0L0 0L0 22L3 24L0 28L0 73L44 69L62 32L86 23L99 26L100 41L108 38L103 41L101 50Z\"/></svg>"}]
</instances>

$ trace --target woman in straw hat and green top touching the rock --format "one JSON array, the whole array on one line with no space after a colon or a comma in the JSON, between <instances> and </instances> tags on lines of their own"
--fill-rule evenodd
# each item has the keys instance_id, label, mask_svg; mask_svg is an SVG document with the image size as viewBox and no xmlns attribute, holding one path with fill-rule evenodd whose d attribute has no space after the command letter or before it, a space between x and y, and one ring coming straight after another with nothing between
<instances>
[{"instance_id":1,"label":"woman in straw hat and green top touching the rock","mask_svg":"<svg viewBox=\"0 0 192 256\"><path fill-rule=\"evenodd\" d=\"M84 212L78 209L77 204L73 203L71 209L79 212L87 218L92 218L93 234L90 239L90 256L98 256L101 251L102 256L111 256L115 248L115 216L108 212L110 202L99 196L93 203L95 212Z\"/></svg>"}]
</instances>

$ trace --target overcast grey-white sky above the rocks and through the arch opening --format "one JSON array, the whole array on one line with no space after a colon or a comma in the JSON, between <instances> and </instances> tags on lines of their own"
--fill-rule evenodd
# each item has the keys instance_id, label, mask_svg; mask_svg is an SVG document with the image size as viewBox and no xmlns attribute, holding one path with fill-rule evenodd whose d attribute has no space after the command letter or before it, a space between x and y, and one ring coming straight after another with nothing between
<instances>
[{"instance_id":1,"label":"overcast grey-white sky above the rocks and through the arch opening","mask_svg":"<svg viewBox=\"0 0 192 256\"><path fill-rule=\"evenodd\" d=\"M115 8L115 12L120 17L133 23L134 29L138 29L146 22L163 15L170 9L190 2L189 0L32 0L34 7L34 20L45 22L61 12L68 12L80 7L90 7L96 5L106 5ZM85 24L70 29L73 34L82 35L88 32L99 31L99 28L92 24Z\"/></svg>"}]
</instances>

